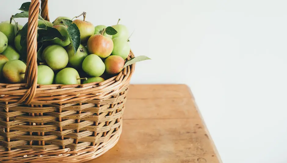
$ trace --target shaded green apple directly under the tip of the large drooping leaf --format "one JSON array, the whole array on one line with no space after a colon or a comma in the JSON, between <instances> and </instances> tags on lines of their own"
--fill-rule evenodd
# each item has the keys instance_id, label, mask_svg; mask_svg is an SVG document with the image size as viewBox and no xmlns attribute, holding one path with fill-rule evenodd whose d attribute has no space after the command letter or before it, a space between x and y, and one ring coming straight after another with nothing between
<instances>
[{"instance_id":1,"label":"shaded green apple directly under the tip of the large drooping leaf","mask_svg":"<svg viewBox=\"0 0 287 163\"><path fill-rule=\"evenodd\" d=\"M85 57L88 56L88 50L85 48L85 46L80 44L76 54L74 54L71 44L65 47L65 49L67 50L69 56L69 64L75 69L81 69L82 62L84 61Z\"/></svg>"}]
</instances>

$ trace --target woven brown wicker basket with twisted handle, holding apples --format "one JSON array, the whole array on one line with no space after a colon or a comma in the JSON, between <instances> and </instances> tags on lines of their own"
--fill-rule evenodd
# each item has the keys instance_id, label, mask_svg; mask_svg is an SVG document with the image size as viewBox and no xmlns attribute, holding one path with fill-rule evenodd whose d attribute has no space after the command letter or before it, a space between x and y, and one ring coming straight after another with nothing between
<instances>
[{"instance_id":1,"label":"woven brown wicker basket with twisted handle, holding apples","mask_svg":"<svg viewBox=\"0 0 287 163\"><path fill-rule=\"evenodd\" d=\"M49 20L48 0L41 15ZM118 141L135 65L117 76L80 85L37 85L39 0L31 0L27 69L22 84L0 83L0 162L84 162ZM129 60L134 57L130 52Z\"/></svg>"}]
</instances>

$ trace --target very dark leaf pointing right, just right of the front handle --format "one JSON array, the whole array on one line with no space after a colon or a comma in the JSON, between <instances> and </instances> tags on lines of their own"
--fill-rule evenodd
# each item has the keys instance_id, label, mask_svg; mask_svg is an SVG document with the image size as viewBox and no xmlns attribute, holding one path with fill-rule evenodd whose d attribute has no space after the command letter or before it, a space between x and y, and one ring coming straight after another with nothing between
<instances>
[{"instance_id":1,"label":"very dark leaf pointing right, just right of the front handle","mask_svg":"<svg viewBox=\"0 0 287 163\"><path fill-rule=\"evenodd\" d=\"M47 29L39 28L38 29L38 42L49 41L55 38L64 39L61 33L53 27L47 27Z\"/></svg>"}]
</instances>

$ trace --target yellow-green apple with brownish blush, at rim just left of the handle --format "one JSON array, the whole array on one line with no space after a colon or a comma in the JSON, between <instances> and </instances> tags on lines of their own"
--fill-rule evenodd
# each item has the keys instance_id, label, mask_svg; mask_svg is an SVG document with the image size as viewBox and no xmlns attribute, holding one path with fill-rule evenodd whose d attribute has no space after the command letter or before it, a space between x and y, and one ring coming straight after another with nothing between
<instances>
[{"instance_id":1,"label":"yellow-green apple with brownish blush, at rim just left of the handle","mask_svg":"<svg viewBox=\"0 0 287 163\"><path fill-rule=\"evenodd\" d=\"M3 67L3 76L9 83L24 83L26 65L20 60L8 61Z\"/></svg>"}]
</instances>

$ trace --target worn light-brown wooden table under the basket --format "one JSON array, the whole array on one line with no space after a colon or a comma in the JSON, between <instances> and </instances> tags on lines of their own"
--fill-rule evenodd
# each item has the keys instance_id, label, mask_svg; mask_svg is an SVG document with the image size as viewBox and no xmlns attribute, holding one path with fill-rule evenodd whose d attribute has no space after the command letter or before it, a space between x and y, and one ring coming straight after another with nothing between
<instances>
[{"instance_id":1,"label":"worn light-brown wooden table under the basket","mask_svg":"<svg viewBox=\"0 0 287 163\"><path fill-rule=\"evenodd\" d=\"M186 85L130 85L120 140L87 163L219 163Z\"/></svg>"}]
</instances>

